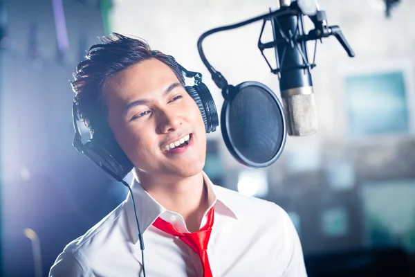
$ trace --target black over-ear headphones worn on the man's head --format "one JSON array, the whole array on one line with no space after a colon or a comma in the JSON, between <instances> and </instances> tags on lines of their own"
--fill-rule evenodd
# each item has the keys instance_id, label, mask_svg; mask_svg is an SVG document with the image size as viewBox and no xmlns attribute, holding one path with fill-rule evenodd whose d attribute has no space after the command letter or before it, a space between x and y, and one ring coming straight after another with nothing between
<instances>
[{"instance_id":1,"label":"black over-ear headphones worn on the man's head","mask_svg":"<svg viewBox=\"0 0 415 277\"><path fill-rule=\"evenodd\" d=\"M196 102L197 107L201 111L203 123L205 123L206 133L214 132L219 125L218 112L212 94L208 87L202 82L202 74L199 72L187 71L183 66L178 64L174 57L169 56L172 61L178 65L183 75L187 78L193 78L193 86L185 86L187 93ZM82 152L91 159L104 172L116 179L122 181L124 177L133 169L133 163L128 159L127 155L122 151L120 145L113 138L100 137L99 134L93 134L91 139L85 144L82 143L82 135L77 121L80 120L77 112L76 102L72 106L73 128L75 129L75 137L73 146L78 152Z\"/></svg>"}]
</instances>

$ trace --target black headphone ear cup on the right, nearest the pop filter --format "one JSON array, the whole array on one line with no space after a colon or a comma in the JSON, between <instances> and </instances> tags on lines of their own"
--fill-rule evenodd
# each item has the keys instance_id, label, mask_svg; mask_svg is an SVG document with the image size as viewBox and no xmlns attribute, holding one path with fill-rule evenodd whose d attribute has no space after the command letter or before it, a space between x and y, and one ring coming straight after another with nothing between
<instances>
[{"instance_id":1,"label":"black headphone ear cup on the right, nearest the pop filter","mask_svg":"<svg viewBox=\"0 0 415 277\"><path fill-rule=\"evenodd\" d=\"M208 87L201 82L194 86L186 86L185 89L201 111L206 133L214 132L219 125L219 117L212 94Z\"/></svg>"}]
</instances>

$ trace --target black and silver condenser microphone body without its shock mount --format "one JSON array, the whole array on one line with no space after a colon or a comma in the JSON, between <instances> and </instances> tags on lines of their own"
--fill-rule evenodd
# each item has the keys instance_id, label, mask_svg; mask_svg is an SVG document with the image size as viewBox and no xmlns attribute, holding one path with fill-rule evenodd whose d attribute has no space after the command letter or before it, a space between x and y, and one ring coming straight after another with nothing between
<instances>
[{"instance_id":1,"label":"black and silver condenser microphone body without its shock mount","mask_svg":"<svg viewBox=\"0 0 415 277\"><path fill-rule=\"evenodd\" d=\"M280 0L282 10L289 9L291 1ZM273 17L275 57L279 64L281 91L287 132L291 136L306 136L317 132L317 111L308 64L302 15Z\"/></svg>"}]
</instances>

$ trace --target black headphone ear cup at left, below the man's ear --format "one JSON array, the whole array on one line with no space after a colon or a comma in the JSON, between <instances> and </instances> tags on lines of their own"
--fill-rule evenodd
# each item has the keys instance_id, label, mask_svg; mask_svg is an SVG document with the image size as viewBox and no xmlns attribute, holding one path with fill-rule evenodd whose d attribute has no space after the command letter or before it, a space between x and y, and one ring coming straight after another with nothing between
<instances>
[{"instance_id":1,"label":"black headphone ear cup at left, below the man's ear","mask_svg":"<svg viewBox=\"0 0 415 277\"><path fill-rule=\"evenodd\" d=\"M108 175L121 181L133 169L133 163L115 141L93 138L82 146L82 152Z\"/></svg>"}]
</instances>

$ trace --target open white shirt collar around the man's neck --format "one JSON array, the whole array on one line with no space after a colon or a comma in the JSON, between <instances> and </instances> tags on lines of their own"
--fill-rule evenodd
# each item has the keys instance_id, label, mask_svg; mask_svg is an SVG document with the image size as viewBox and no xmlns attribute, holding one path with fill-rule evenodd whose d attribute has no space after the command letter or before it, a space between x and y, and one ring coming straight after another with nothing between
<instances>
[{"instance_id":1,"label":"open white shirt collar around the man's neck","mask_svg":"<svg viewBox=\"0 0 415 277\"><path fill-rule=\"evenodd\" d=\"M215 206L215 213L221 213L237 219L237 213L235 212L236 207L233 205L232 199L230 199L229 195L223 193L223 190L219 189L217 186L214 186L205 172L203 172L203 178L205 180L205 184L208 185L208 202L210 204L210 208ZM131 190L136 204L140 231L141 233L145 233L157 217L167 211L167 209L161 206L156 199L151 197L151 195L149 195L149 193L142 188L140 183L138 183L135 178L133 178L133 181L131 182ZM133 201L130 195L131 193L127 195L127 199L125 200L126 211L131 240L134 244L136 244L138 241L138 229L136 216L134 214Z\"/></svg>"}]
</instances>

